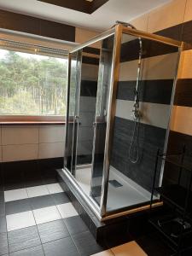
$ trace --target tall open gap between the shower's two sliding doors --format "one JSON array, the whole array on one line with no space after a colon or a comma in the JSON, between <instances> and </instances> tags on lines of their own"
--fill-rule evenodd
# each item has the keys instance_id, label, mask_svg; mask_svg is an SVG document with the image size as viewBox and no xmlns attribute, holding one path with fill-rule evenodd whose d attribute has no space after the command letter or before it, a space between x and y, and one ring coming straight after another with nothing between
<instances>
[{"instance_id":1,"label":"tall open gap between the shower's two sliding doors","mask_svg":"<svg viewBox=\"0 0 192 256\"><path fill-rule=\"evenodd\" d=\"M100 49L101 42L98 42L82 50L75 177L86 195L90 195Z\"/></svg>"}]
</instances>

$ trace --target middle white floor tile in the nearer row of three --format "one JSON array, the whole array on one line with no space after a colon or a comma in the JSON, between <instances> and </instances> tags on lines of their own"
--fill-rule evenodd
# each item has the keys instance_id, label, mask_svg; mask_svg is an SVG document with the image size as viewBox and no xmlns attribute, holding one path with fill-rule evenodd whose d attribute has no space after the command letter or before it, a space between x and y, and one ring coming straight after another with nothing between
<instances>
[{"instance_id":1,"label":"middle white floor tile in the nearer row of three","mask_svg":"<svg viewBox=\"0 0 192 256\"><path fill-rule=\"evenodd\" d=\"M37 224L46 223L56 219L60 219L61 215L56 207L45 207L33 211Z\"/></svg>"}]
</instances>

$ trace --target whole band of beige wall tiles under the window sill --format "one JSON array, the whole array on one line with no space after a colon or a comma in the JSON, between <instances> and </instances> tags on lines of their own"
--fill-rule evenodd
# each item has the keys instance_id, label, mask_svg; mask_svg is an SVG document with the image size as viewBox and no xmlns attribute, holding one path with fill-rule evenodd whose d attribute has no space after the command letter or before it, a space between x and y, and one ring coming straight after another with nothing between
<instances>
[{"instance_id":1,"label":"whole band of beige wall tiles under the window sill","mask_svg":"<svg viewBox=\"0 0 192 256\"><path fill-rule=\"evenodd\" d=\"M64 125L2 125L0 160L36 160L64 155Z\"/></svg>"}]
</instances>

